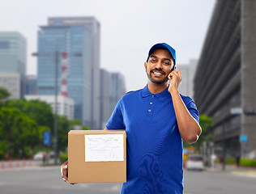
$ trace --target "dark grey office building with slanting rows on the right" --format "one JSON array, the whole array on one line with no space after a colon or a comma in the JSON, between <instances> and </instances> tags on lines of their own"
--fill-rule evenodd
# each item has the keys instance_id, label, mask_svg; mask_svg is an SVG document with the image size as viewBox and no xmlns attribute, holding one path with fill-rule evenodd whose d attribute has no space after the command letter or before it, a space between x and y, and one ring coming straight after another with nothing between
<instances>
[{"instance_id":1,"label":"dark grey office building with slanting rows on the right","mask_svg":"<svg viewBox=\"0 0 256 194\"><path fill-rule=\"evenodd\" d=\"M216 1L194 78L219 155L256 158L256 1ZM220 149L218 149L220 148Z\"/></svg>"}]
</instances>

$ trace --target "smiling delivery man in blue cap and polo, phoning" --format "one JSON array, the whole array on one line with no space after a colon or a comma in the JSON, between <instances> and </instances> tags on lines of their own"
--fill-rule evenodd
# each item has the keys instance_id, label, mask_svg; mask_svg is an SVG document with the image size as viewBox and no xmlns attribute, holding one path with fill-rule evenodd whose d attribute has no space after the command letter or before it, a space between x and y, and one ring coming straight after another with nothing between
<instances>
[{"instance_id":1,"label":"smiling delivery man in blue cap and polo, phoning","mask_svg":"<svg viewBox=\"0 0 256 194\"><path fill-rule=\"evenodd\" d=\"M169 44L155 44L144 68L147 86L126 93L117 103L107 129L125 129L127 182L121 193L183 193L182 139L198 140L201 128L193 99L180 95L181 72ZM62 164L67 181L68 162Z\"/></svg>"}]
</instances>

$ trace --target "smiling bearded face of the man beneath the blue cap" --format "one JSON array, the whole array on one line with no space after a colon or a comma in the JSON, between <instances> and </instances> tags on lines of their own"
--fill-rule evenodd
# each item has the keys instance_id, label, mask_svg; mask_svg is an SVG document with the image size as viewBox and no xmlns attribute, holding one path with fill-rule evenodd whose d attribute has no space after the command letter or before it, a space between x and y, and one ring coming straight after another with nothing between
<instances>
[{"instance_id":1,"label":"smiling bearded face of the man beneath the blue cap","mask_svg":"<svg viewBox=\"0 0 256 194\"><path fill-rule=\"evenodd\" d=\"M169 51L156 49L144 64L147 78L155 84L164 84L168 82L173 65L173 57Z\"/></svg>"}]
</instances>

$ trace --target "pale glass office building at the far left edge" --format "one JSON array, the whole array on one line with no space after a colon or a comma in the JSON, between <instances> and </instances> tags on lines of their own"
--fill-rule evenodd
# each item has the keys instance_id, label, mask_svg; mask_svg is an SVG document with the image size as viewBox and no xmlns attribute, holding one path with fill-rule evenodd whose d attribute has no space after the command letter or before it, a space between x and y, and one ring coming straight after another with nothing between
<instances>
[{"instance_id":1,"label":"pale glass office building at the far left edge","mask_svg":"<svg viewBox=\"0 0 256 194\"><path fill-rule=\"evenodd\" d=\"M11 88L10 85L5 86L11 92L11 98L22 98L25 93L26 55L27 40L24 36L19 32L0 32L1 82L6 84L8 82L14 86ZM15 80L19 80L19 83ZM18 86L19 91L16 91Z\"/></svg>"}]
</instances>

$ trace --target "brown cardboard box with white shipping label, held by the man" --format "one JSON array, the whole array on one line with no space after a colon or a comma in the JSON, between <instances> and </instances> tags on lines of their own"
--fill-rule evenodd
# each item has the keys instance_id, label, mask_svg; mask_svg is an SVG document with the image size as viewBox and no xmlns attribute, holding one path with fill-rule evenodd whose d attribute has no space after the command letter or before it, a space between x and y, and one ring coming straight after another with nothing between
<instances>
[{"instance_id":1,"label":"brown cardboard box with white shipping label, held by the man","mask_svg":"<svg viewBox=\"0 0 256 194\"><path fill-rule=\"evenodd\" d=\"M71 130L68 182L126 182L126 131Z\"/></svg>"}]
</instances>

